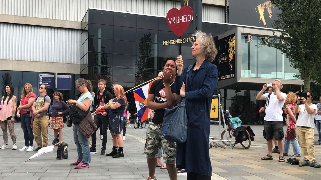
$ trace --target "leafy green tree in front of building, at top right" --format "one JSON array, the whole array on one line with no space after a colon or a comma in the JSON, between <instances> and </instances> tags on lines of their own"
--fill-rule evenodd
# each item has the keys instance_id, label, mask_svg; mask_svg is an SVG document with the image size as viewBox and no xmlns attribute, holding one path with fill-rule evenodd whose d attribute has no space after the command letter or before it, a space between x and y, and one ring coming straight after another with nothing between
<instances>
[{"instance_id":1,"label":"leafy green tree in front of building, at top right","mask_svg":"<svg viewBox=\"0 0 321 180\"><path fill-rule=\"evenodd\" d=\"M267 41L267 45L286 54L291 66L300 72L304 91L310 81L321 75L321 0L271 0L280 10L274 29L282 29L284 43ZM275 32L273 32L275 33Z\"/></svg>"}]
</instances>

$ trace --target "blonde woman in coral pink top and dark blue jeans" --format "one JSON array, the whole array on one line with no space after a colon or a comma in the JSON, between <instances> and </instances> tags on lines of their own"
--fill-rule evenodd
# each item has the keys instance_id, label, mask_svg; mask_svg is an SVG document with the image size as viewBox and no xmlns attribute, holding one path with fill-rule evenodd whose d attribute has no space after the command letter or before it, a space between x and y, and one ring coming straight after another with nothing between
<instances>
[{"instance_id":1,"label":"blonde woman in coral pink top and dark blue jeans","mask_svg":"<svg viewBox=\"0 0 321 180\"><path fill-rule=\"evenodd\" d=\"M19 151L28 151L32 152L33 148L33 132L31 129L31 122L32 122L32 105L36 98L36 94L32 91L31 84L27 83L24 85L22 89L21 101L20 105L17 108L17 117L20 117L21 120L21 127L23 130L24 136L24 143L25 145L19 149ZM21 112L21 115L20 115ZM31 112L31 113L30 113ZM30 116L31 115L31 116Z\"/></svg>"}]
</instances>

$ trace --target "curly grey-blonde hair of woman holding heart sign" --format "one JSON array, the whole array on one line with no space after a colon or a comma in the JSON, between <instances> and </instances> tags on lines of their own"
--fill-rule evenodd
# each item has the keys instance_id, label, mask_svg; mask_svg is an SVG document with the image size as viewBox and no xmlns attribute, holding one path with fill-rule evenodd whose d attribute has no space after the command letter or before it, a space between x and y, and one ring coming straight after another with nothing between
<instances>
[{"instance_id":1,"label":"curly grey-blonde hair of woman holding heart sign","mask_svg":"<svg viewBox=\"0 0 321 180\"><path fill-rule=\"evenodd\" d=\"M206 34L203 31L195 31L192 36L196 36L196 39L201 39L201 49L202 52L205 54L205 58L208 62L213 62L215 56L217 55L217 49L215 46L215 42L213 41L212 34Z\"/></svg>"}]
</instances>

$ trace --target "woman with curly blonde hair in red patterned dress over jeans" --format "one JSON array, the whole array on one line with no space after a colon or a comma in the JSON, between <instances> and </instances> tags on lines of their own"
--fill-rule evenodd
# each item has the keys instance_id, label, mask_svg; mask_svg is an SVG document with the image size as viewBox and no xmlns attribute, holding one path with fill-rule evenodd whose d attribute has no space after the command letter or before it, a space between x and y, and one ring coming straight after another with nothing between
<instances>
[{"instance_id":1,"label":"woman with curly blonde hair in red patterned dress over jeans","mask_svg":"<svg viewBox=\"0 0 321 180\"><path fill-rule=\"evenodd\" d=\"M300 146L298 140L295 137L295 123L297 123L297 119L295 118L297 113L294 111L295 106L297 105L295 102L297 101L297 95L293 92L289 92L286 96L285 100L285 108L286 108L286 133L285 133L285 142L284 142L284 152L283 155L287 156L289 153L290 145L292 144L293 155L291 157L298 158L301 157Z\"/></svg>"}]
</instances>

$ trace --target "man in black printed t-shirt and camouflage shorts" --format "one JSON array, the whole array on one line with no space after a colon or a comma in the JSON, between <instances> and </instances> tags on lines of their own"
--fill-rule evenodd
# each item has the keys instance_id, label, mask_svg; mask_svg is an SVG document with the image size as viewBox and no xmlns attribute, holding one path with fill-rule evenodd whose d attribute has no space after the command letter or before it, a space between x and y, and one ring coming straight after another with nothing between
<instances>
[{"instance_id":1,"label":"man in black printed t-shirt and camouflage shorts","mask_svg":"<svg viewBox=\"0 0 321 180\"><path fill-rule=\"evenodd\" d=\"M176 163L176 143L167 141L161 134L161 128L165 113L165 108L173 108L173 106L167 103L167 96L172 96L174 92L174 81L176 74L176 58L166 58L163 63L163 71L167 71L172 74L174 78L170 82L166 83L167 91L165 90L165 84L162 79L156 80L149 91L147 98L147 107L155 111L152 123L147 129L146 143L144 154L147 158L147 165L149 175L146 180L156 180L155 177L155 164L157 163L157 154L160 149L163 149L164 163L166 163L169 178L171 180L177 179ZM170 91L169 91L170 89Z\"/></svg>"}]
</instances>

